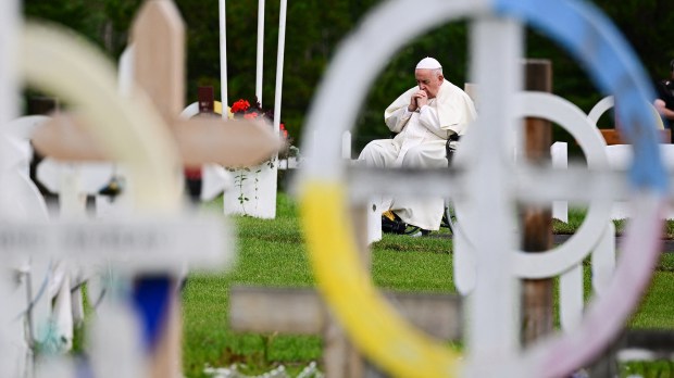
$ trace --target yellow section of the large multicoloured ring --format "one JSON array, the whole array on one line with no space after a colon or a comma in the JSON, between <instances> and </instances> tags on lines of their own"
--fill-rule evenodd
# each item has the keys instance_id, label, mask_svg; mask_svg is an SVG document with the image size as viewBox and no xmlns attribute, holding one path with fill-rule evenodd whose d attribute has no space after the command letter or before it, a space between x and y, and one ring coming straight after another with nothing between
<instances>
[{"instance_id":1,"label":"yellow section of the large multicoloured ring","mask_svg":"<svg viewBox=\"0 0 674 378\"><path fill-rule=\"evenodd\" d=\"M319 288L372 361L398 377L453 377L460 354L411 327L374 288L359 261L341 184L311 180L300 199ZM329 214L329 215L327 215Z\"/></svg>"}]
</instances>

